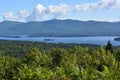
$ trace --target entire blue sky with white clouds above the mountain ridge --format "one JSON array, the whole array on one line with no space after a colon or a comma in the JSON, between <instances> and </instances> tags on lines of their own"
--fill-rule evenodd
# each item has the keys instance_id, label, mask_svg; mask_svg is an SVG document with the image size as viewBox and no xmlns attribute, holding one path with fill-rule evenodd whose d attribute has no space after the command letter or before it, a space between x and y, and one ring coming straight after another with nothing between
<instances>
[{"instance_id":1,"label":"entire blue sky with white clouds above the mountain ridge","mask_svg":"<svg viewBox=\"0 0 120 80\"><path fill-rule=\"evenodd\" d=\"M0 21L120 21L120 0L1 0Z\"/></svg>"}]
</instances>

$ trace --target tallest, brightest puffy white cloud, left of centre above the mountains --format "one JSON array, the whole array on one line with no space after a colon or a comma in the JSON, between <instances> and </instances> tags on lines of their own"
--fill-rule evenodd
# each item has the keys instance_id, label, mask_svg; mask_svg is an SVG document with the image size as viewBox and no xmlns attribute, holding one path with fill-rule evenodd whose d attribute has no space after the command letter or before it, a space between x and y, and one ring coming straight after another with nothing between
<instances>
[{"instance_id":1,"label":"tallest, brightest puffy white cloud, left of centre above the mountains","mask_svg":"<svg viewBox=\"0 0 120 80\"><path fill-rule=\"evenodd\" d=\"M69 6L66 4L60 4L57 6L50 5L48 7L44 7L41 4L38 4L33 10L32 14L30 14L27 18L28 21L43 21L53 18L58 18L64 14L66 14L69 10Z\"/></svg>"}]
</instances>

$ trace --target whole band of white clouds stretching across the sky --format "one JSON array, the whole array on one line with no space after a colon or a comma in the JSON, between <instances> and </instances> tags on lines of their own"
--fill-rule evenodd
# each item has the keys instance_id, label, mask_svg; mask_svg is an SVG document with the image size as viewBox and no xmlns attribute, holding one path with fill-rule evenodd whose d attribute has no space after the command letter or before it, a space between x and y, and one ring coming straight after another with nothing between
<instances>
[{"instance_id":1,"label":"whole band of white clouds stretching across the sky","mask_svg":"<svg viewBox=\"0 0 120 80\"><path fill-rule=\"evenodd\" d=\"M100 0L96 3L86 3L81 5L69 6L65 3L59 5L49 5L44 7L42 4L37 4L32 12L21 10L17 14L8 12L4 14L4 20L24 20L24 21L44 21L49 19L59 18L68 13L94 11L101 9L120 8L120 0Z\"/></svg>"}]
</instances>

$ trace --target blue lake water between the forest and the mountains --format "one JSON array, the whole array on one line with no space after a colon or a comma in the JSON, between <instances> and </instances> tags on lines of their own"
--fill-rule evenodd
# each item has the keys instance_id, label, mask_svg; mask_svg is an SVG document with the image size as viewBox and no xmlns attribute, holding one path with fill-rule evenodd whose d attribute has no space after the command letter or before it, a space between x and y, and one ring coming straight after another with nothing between
<instances>
[{"instance_id":1,"label":"blue lake water between the forest and the mountains","mask_svg":"<svg viewBox=\"0 0 120 80\"><path fill-rule=\"evenodd\" d=\"M0 40L21 40L21 41L38 41L48 43L77 43L77 44L98 44L106 45L110 40L113 45L120 45L119 41L115 41L117 36L88 36L88 37L0 37Z\"/></svg>"}]
</instances>

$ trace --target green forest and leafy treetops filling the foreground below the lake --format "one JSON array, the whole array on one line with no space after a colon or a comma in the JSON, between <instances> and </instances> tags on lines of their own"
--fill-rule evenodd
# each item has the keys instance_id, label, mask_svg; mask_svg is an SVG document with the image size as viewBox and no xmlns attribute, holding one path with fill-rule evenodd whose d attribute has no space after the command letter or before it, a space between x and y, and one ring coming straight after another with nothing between
<instances>
[{"instance_id":1,"label":"green forest and leafy treetops filling the foreground below the lake","mask_svg":"<svg viewBox=\"0 0 120 80\"><path fill-rule=\"evenodd\" d=\"M1 40L0 80L120 80L120 47Z\"/></svg>"}]
</instances>

